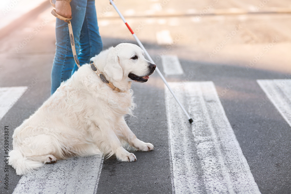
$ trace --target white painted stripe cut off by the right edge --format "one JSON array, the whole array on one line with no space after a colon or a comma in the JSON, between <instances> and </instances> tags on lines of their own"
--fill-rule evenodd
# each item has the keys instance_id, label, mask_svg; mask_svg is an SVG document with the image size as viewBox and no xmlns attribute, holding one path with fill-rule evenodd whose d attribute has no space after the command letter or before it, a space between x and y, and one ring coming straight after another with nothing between
<instances>
[{"instance_id":1,"label":"white painted stripe cut off by the right edge","mask_svg":"<svg viewBox=\"0 0 291 194\"><path fill-rule=\"evenodd\" d=\"M291 127L291 80L273 79L257 82ZM266 99L259 106L263 106L264 102L266 103Z\"/></svg>"}]
</instances>

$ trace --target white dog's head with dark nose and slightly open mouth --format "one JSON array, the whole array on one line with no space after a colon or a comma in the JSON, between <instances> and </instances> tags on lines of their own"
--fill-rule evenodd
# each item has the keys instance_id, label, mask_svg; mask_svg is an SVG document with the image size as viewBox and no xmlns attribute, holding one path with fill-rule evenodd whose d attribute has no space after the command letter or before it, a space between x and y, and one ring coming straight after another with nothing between
<instances>
[{"instance_id":1,"label":"white dog's head with dark nose and slightly open mouth","mask_svg":"<svg viewBox=\"0 0 291 194\"><path fill-rule=\"evenodd\" d=\"M104 73L115 81L146 82L156 65L144 58L137 45L121 43L109 49Z\"/></svg>"}]
</instances>

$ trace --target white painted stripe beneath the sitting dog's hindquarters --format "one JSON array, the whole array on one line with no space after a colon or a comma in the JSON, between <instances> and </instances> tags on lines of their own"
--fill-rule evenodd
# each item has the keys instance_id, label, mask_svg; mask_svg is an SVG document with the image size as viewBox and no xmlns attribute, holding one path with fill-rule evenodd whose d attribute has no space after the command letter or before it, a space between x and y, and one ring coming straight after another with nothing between
<instances>
[{"instance_id":1,"label":"white painted stripe beneath the sitting dog's hindquarters","mask_svg":"<svg viewBox=\"0 0 291 194\"><path fill-rule=\"evenodd\" d=\"M46 164L22 176L13 194L96 193L102 164L102 154Z\"/></svg>"}]
</instances>

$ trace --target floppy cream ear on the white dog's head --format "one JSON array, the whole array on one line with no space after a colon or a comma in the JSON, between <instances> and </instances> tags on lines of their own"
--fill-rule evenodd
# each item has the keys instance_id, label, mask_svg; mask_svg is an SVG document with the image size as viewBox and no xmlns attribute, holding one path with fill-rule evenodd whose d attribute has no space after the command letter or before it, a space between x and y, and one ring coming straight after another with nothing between
<instances>
[{"instance_id":1,"label":"floppy cream ear on the white dog's head","mask_svg":"<svg viewBox=\"0 0 291 194\"><path fill-rule=\"evenodd\" d=\"M116 81L121 81L123 76L123 70L120 66L120 60L117 51L111 49L109 51L107 64L105 65L104 72Z\"/></svg>"}]
</instances>

